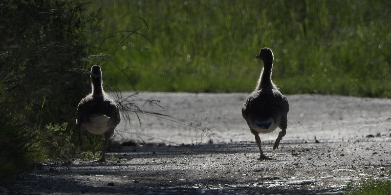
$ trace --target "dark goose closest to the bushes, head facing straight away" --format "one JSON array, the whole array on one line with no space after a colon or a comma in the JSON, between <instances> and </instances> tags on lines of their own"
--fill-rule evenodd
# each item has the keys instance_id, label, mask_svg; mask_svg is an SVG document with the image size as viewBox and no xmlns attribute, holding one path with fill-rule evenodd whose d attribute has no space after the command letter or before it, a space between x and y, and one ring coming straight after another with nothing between
<instances>
[{"instance_id":1,"label":"dark goose closest to the bushes, head facing straight away","mask_svg":"<svg viewBox=\"0 0 391 195\"><path fill-rule=\"evenodd\" d=\"M83 132L86 129L94 135L103 135L102 157L97 162L105 161L109 139L121 120L116 103L111 100L102 88L102 71L99 66L91 67L92 93L83 98L77 106L76 124L79 129L79 143L83 143Z\"/></svg>"}]
</instances>

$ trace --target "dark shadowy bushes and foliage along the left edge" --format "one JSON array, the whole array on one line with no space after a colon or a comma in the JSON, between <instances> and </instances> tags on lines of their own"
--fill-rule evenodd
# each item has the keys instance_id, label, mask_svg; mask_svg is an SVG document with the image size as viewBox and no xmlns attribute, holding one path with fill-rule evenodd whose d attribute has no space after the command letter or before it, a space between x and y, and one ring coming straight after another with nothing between
<instances>
[{"instance_id":1,"label":"dark shadowy bushes and foliage along the left edge","mask_svg":"<svg viewBox=\"0 0 391 195\"><path fill-rule=\"evenodd\" d=\"M85 60L100 19L82 0L0 3L1 178L74 155L75 111L89 91ZM97 141L98 139L91 139ZM99 143L101 138L99 139ZM90 144L92 145L92 144Z\"/></svg>"}]
</instances>

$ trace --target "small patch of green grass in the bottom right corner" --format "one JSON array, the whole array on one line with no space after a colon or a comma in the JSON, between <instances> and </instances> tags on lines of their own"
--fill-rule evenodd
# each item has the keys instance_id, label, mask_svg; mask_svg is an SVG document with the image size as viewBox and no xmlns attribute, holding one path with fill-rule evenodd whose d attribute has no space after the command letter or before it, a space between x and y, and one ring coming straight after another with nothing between
<instances>
[{"instance_id":1,"label":"small patch of green grass in the bottom right corner","mask_svg":"<svg viewBox=\"0 0 391 195\"><path fill-rule=\"evenodd\" d=\"M391 192L391 180L366 179L361 180L360 185L359 190L346 195L389 195Z\"/></svg>"}]
</instances>

